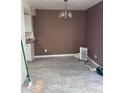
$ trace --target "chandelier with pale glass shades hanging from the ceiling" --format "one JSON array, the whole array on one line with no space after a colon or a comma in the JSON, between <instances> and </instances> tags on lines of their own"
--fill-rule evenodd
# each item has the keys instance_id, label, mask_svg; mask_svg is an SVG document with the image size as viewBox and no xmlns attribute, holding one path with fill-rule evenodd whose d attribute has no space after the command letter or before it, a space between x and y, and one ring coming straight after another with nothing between
<instances>
[{"instance_id":1,"label":"chandelier with pale glass shades hanging from the ceiling","mask_svg":"<svg viewBox=\"0 0 124 93\"><path fill-rule=\"evenodd\" d=\"M65 8L63 10L61 10L61 12L59 13L58 17L59 18L65 18L65 19L66 18L72 18L71 11L69 11L67 9L67 2L68 2L68 0L64 0L64 2L65 2Z\"/></svg>"}]
</instances>

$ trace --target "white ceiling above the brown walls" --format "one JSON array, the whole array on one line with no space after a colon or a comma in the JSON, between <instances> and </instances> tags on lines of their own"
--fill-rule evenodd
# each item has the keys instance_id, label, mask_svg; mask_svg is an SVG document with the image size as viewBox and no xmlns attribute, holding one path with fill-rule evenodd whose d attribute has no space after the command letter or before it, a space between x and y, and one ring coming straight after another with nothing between
<instances>
[{"instance_id":1,"label":"white ceiling above the brown walls","mask_svg":"<svg viewBox=\"0 0 124 93\"><path fill-rule=\"evenodd\" d=\"M59 10L64 8L64 0L30 0L35 9ZM68 0L68 9L86 10L102 0Z\"/></svg>"}]
</instances>

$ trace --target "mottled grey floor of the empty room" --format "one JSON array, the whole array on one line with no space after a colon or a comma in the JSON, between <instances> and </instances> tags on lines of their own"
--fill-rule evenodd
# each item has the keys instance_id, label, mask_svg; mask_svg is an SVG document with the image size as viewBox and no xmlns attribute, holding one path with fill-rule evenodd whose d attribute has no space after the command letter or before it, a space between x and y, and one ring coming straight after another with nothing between
<instances>
[{"instance_id":1,"label":"mottled grey floor of the empty room","mask_svg":"<svg viewBox=\"0 0 124 93\"><path fill-rule=\"evenodd\" d=\"M103 93L103 77L75 57L35 59L28 67L32 82L45 82L44 93ZM24 85L22 93L31 92Z\"/></svg>"}]
</instances>

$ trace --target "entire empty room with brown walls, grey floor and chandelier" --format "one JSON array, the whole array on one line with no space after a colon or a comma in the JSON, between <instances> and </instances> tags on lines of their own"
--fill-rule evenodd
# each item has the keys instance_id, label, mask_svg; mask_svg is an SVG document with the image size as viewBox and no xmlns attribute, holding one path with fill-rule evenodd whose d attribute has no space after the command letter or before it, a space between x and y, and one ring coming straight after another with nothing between
<instances>
[{"instance_id":1,"label":"entire empty room with brown walls, grey floor and chandelier","mask_svg":"<svg viewBox=\"0 0 124 93\"><path fill-rule=\"evenodd\" d=\"M103 1L21 2L21 92L103 93Z\"/></svg>"}]
</instances>

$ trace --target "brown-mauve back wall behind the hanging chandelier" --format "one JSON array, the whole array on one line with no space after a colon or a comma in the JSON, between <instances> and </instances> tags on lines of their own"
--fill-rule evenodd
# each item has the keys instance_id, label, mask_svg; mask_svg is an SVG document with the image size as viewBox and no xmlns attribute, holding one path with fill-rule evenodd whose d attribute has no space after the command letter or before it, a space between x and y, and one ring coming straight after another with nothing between
<instances>
[{"instance_id":1,"label":"brown-mauve back wall behind the hanging chandelier","mask_svg":"<svg viewBox=\"0 0 124 93\"><path fill-rule=\"evenodd\" d=\"M85 45L85 12L72 11L72 19L58 18L54 10L37 10L33 17L35 55L78 53Z\"/></svg>"}]
</instances>

